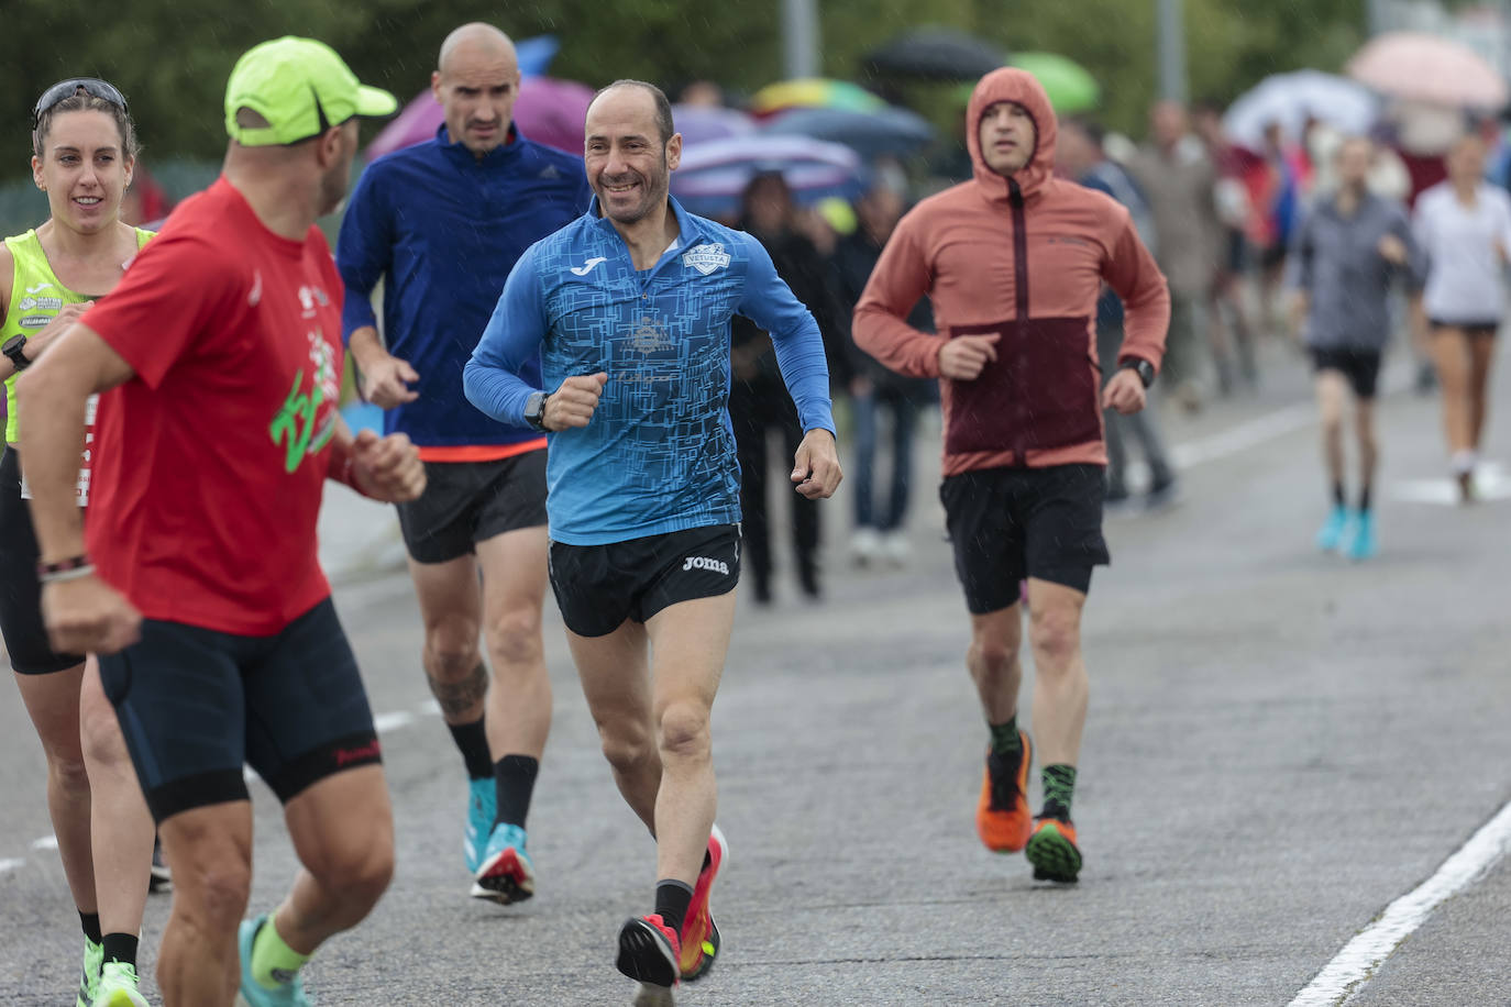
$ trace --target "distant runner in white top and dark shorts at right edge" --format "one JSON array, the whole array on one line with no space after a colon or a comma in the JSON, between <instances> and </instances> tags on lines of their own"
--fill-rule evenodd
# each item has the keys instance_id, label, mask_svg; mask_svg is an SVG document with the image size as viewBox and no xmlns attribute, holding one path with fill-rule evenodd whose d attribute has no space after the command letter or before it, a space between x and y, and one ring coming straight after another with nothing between
<instances>
[{"instance_id":1,"label":"distant runner in white top and dark shorts at right edge","mask_svg":"<svg viewBox=\"0 0 1511 1007\"><path fill-rule=\"evenodd\" d=\"M1511 198L1484 181L1484 169L1485 142L1478 134L1460 139L1448 152L1448 181L1422 193L1413 219L1426 255L1417 325L1431 326L1443 430L1464 503L1475 498L1485 390L1511 261Z\"/></svg>"}]
</instances>

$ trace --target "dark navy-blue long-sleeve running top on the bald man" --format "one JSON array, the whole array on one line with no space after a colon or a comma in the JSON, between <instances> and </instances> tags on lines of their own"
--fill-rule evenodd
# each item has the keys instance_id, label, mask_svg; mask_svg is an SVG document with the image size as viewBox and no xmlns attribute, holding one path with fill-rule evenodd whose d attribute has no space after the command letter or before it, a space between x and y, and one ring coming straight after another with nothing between
<instances>
[{"instance_id":1,"label":"dark navy-blue long-sleeve running top on the bald man","mask_svg":"<svg viewBox=\"0 0 1511 1007\"><path fill-rule=\"evenodd\" d=\"M346 284L341 338L376 323L370 297L382 279L388 352L420 374L420 397L388 409L384 433L408 433L422 454L539 439L468 406L462 368L524 249L576 220L591 199L580 157L517 133L479 160L441 127L434 140L363 172L335 245Z\"/></svg>"}]
</instances>

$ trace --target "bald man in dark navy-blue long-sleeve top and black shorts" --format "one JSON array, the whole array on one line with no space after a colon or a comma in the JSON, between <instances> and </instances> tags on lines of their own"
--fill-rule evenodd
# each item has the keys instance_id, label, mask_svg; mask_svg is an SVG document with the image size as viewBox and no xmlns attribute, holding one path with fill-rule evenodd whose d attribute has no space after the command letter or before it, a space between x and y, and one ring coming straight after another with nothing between
<instances>
[{"instance_id":1,"label":"bald man in dark navy-blue long-sleeve top and black shorts","mask_svg":"<svg viewBox=\"0 0 1511 1007\"><path fill-rule=\"evenodd\" d=\"M341 329L384 430L408 433L429 474L425 495L399 504L425 675L470 781L471 895L509 904L535 892L524 818L552 723L545 438L467 405L462 368L514 263L592 193L580 157L511 124L520 66L503 32L464 24L437 66L431 88L446 124L363 172L341 222ZM372 306L379 281L384 338Z\"/></svg>"}]
</instances>

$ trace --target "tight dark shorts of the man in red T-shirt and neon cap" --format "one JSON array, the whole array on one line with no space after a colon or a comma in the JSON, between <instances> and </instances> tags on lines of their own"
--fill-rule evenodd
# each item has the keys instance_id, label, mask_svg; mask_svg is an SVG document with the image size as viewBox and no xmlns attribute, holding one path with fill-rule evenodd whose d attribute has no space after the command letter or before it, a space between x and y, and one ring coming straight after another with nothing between
<instances>
[{"instance_id":1,"label":"tight dark shorts of the man in red T-shirt and neon cap","mask_svg":"<svg viewBox=\"0 0 1511 1007\"><path fill-rule=\"evenodd\" d=\"M246 800L251 765L287 803L311 784L381 761L357 658L329 598L270 637L147 619L101 655L153 818Z\"/></svg>"}]
</instances>

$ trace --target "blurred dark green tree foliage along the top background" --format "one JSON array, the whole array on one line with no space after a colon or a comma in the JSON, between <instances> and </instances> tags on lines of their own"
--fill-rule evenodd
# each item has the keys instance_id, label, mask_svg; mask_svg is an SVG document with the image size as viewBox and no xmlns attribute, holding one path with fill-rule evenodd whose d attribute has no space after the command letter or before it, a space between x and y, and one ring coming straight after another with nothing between
<instances>
[{"instance_id":1,"label":"blurred dark green tree foliage along the top background","mask_svg":"<svg viewBox=\"0 0 1511 1007\"><path fill-rule=\"evenodd\" d=\"M1103 86L1109 125L1142 133L1154 97L1156 0L819 0L823 69L854 77L860 57L914 24L969 29L1008 48L1058 51ZM1337 69L1363 41L1364 0L1185 0L1191 94L1228 100L1268 74ZM131 100L150 159L216 159L221 97L246 47L296 33L334 45L363 80L419 94L452 27L490 20L515 38L553 33L559 77L589 85L644 77L668 88L712 79L749 92L781 75L781 0L6 0L0 63L15 151L0 178L27 171L27 124L42 88L94 74ZM941 95L941 91L917 94ZM925 109L947 116L943 109Z\"/></svg>"}]
</instances>

